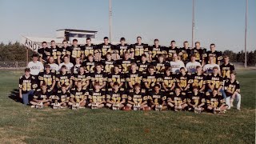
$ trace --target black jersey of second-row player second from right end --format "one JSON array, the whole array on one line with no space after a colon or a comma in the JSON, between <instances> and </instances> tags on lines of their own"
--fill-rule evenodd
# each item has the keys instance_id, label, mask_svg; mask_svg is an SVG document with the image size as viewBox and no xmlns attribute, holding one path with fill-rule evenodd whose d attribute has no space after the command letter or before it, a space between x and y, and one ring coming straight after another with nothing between
<instances>
[{"instance_id":1,"label":"black jersey of second-row player second from right end","mask_svg":"<svg viewBox=\"0 0 256 144\"><path fill-rule=\"evenodd\" d=\"M223 78L219 74L209 74L206 79L206 83L214 86L214 89L223 86Z\"/></svg>"}]
</instances>

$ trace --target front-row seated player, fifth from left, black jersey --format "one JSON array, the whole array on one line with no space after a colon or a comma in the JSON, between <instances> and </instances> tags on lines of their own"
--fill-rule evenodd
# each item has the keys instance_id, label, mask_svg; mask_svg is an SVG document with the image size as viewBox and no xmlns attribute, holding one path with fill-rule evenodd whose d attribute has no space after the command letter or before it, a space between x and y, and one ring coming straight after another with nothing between
<instances>
[{"instance_id":1,"label":"front-row seated player, fifth from left, black jersey","mask_svg":"<svg viewBox=\"0 0 256 144\"><path fill-rule=\"evenodd\" d=\"M113 90L106 94L106 106L112 110L121 110L126 103L127 95L124 91L119 90L119 83L114 82Z\"/></svg>"}]
</instances>

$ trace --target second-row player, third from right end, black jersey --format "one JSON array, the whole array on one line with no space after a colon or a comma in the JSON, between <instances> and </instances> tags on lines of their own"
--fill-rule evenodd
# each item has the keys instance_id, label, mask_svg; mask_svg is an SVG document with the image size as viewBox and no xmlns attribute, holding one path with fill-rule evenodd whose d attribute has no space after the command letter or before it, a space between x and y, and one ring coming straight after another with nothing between
<instances>
[{"instance_id":1,"label":"second-row player, third from right end, black jersey","mask_svg":"<svg viewBox=\"0 0 256 144\"><path fill-rule=\"evenodd\" d=\"M194 86L197 86L199 88L199 92L204 93L206 88L206 75L202 74L202 67L197 66L196 67L196 73L191 74L190 76L190 91L193 90Z\"/></svg>"}]
</instances>

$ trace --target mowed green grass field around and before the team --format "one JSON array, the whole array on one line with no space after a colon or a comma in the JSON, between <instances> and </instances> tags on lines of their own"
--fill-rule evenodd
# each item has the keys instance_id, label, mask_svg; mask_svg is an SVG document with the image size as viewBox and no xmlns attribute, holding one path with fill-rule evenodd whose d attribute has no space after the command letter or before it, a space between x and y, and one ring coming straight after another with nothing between
<instances>
[{"instance_id":1,"label":"mowed green grass field around and before the team","mask_svg":"<svg viewBox=\"0 0 256 144\"><path fill-rule=\"evenodd\" d=\"M242 110L226 114L36 110L13 99L21 74L0 71L0 143L255 143L255 70L238 71Z\"/></svg>"}]
</instances>

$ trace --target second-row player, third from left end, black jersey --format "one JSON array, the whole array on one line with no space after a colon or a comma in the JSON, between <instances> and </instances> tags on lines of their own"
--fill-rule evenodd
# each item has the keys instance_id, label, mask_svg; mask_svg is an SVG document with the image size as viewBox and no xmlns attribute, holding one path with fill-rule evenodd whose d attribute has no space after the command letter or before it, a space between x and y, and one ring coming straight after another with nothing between
<instances>
[{"instance_id":1,"label":"second-row player, third from left end, black jersey","mask_svg":"<svg viewBox=\"0 0 256 144\"><path fill-rule=\"evenodd\" d=\"M66 85L66 90L69 90L72 86L72 79L70 72L66 71L66 66L62 66L61 71L56 76L57 87L61 88L62 85Z\"/></svg>"}]
</instances>

